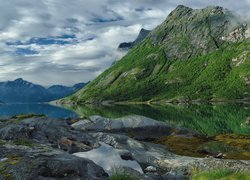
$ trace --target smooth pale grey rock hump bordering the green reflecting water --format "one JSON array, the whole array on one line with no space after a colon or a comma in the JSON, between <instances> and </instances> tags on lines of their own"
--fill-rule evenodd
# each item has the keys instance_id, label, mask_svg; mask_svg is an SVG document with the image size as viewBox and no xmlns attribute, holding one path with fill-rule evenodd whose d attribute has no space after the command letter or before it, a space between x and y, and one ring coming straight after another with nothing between
<instances>
[{"instance_id":1,"label":"smooth pale grey rock hump bordering the green reflecting water","mask_svg":"<svg viewBox=\"0 0 250 180\"><path fill-rule=\"evenodd\" d=\"M91 116L89 119L80 120L71 126L76 130L82 131L125 133L140 140L168 136L172 133L183 135L196 134L185 128L176 128L166 123L138 115L116 119Z\"/></svg>"}]
</instances>

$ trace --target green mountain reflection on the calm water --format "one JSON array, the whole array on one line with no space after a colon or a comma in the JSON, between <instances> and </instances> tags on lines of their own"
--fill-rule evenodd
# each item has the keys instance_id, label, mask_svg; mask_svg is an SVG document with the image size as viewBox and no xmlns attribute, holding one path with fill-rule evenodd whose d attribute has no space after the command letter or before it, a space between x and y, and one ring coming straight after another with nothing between
<instances>
[{"instance_id":1,"label":"green mountain reflection on the calm water","mask_svg":"<svg viewBox=\"0 0 250 180\"><path fill-rule=\"evenodd\" d=\"M80 116L100 115L118 118L126 115L141 115L166 122L173 126L186 127L204 135L235 133L250 135L250 106L240 104L218 105L114 105L68 107Z\"/></svg>"}]
</instances>

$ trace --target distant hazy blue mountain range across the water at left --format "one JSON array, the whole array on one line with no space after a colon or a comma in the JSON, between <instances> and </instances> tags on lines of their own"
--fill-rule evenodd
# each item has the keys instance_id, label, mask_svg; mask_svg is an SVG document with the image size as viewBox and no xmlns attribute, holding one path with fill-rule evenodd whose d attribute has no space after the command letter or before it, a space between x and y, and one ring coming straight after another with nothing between
<instances>
[{"instance_id":1,"label":"distant hazy blue mountain range across the water at left","mask_svg":"<svg viewBox=\"0 0 250 180\"><path fill-rule=\"evenodd\" d=\"M0 103L49 102L69 96L88 83L79 83L72 87L54 85L45 88L22 78L0 82Z\"/></svg>"}]
</instances>

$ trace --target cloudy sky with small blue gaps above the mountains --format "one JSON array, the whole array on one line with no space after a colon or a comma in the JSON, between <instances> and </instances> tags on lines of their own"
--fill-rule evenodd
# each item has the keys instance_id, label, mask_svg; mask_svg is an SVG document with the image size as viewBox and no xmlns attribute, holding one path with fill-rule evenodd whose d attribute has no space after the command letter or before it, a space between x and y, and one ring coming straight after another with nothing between
<instances>
[{"instance_id":1,"label":"cloudy sky with small blue gaps above the mountains","mask_svg":"<svg viewBox=\"0 0 250 180\"><path fill-rule=\"evenodd\" d=\"M0 0L0 81L73 85L93 80L182 4L249 17L250 0Z\"/></svg>"}]
</instances>

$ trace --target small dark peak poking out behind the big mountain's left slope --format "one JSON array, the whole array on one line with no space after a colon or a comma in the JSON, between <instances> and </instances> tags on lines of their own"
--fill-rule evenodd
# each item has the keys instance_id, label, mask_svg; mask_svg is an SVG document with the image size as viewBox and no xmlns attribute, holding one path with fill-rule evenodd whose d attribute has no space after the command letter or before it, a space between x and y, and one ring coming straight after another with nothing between
<instances>
[{"instance_id":1,"label":"small dark peak poking out behind the big mountain's left slope","mask_svg":"<svg viewBox=\"0 0 250 180\"><path fill-rule=\"evenodd\" d=\"M133 42L123 42L121 43L119 46L118 46L118 49L119 50L129 50L131 49L132 47L136 46L137 44L139 44L140 42L142 42L146 37L147 35L150 33L149 30L146 30L146 29L141 29L140 30L140 33L139 35L137 36L136 40L133 41Z\"/></svg>"}]
</instances>

